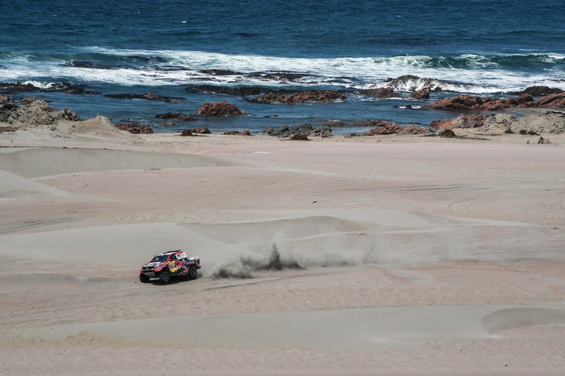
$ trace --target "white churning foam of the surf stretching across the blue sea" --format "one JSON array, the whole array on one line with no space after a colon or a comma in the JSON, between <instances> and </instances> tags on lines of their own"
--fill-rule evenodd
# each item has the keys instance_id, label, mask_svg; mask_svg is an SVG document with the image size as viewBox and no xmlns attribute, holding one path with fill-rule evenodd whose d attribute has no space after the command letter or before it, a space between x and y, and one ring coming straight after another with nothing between
<instances>
[{"instance_id":1,"label":"white churning foam of the surf stretching across the blue sea","mask_svg":"<svg viewBox=\"0 0 565 376\"><path fill-rule=\"evenodd\" d=\"M219 54L205 51L87 48L88 53L107 56L158 56L164 63L158 66L95 69L65 66L66 61L30 61L16 56L0 69L0 80L69 80L71 83L113 83L118 85L333 85L351 89L386 86L387 78L415 75L435 78L441 90L469 93L492 93L523 90L531 85L547 85L565 89L562 71L520 73L500 68L487 56L465 54L455 58L432 56L355 57L333 59L289 58L278 56ZM561 54L539 55L540 59L565 59ZM451 65L450 65L451 64ZM167 67L176 67L167 68ZM210 69L233 71L233 75L202 72ZM288 82L276 78L250 77L254 72L307 74ZM424 81L407 83L396 90L420 90Z\"/></svg>"}]
</instances>

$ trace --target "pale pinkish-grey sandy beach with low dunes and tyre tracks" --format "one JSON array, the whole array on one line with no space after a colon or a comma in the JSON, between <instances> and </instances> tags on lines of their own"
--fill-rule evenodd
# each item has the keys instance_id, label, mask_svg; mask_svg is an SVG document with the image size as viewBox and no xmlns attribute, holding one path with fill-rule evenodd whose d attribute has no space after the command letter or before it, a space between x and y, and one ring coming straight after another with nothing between
<instances>
[{"instance_id":1,"label":"pale pinkish-grey sandy beach with low dunes and tyre tracks","mask_svg":"<svg viewBox=\"0 0 565 376\"><path fill-rule=\"evenodd\" d=\"M0 375L563 374L562 133L52 128L0 133Z\"/></svg>"}]
</instances>

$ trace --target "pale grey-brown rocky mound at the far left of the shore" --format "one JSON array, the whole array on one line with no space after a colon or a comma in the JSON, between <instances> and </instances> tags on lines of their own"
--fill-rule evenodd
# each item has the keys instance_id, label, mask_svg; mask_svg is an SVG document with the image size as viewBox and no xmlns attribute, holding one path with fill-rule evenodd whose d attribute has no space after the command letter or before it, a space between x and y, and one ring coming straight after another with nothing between
<instances>
[{"instance_id":1,"label":"pale grey-brown rocky mound at the far left of the shore","mask_svg":"<svg viewBox=\"0 0 565 376\"><path fill-rule=\"evenodd\" d=\"M34 100L26 104L8 102L0 107L0 122L13 125L49 125L61 120L82 121L73 110L64 108L59 111L50 104Z\"/></svg>"}]
</instances>

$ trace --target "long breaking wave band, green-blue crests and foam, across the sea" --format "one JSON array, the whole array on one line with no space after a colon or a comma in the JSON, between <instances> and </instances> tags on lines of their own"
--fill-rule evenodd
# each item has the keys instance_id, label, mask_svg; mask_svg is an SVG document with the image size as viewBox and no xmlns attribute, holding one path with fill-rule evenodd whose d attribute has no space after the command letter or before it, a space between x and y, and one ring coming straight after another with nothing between
<instances>
[{"instance_id":1,"label":"long breaking wave band, green-blue crests and foam, across the sea","mask_svg":"<svg viewBox=\"0 0 565 376\"><path fill-rule=\"evenodd\" d=\"M363 89L415 75L457 92L504 92L530 85L565 88L561 54L288 58L205 51L87 47L75 54L0 52L0 81L117 85L263 85ZM256 73L293 73L266 75ZM424 81L397 85L418 90Z\"/></svg>"}]
</instances>

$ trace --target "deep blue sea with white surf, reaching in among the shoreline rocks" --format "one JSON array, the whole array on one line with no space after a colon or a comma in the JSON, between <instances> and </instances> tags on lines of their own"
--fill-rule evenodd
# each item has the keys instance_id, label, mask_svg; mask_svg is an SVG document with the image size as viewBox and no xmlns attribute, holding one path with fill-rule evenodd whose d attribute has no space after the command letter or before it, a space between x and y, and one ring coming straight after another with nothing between
<instances>
[{"instance_id":1,"label":"deep blue sea with white surf, reaching in among the shoreline rocks","mask_svg":"<svg viewBox=\"0 0 565 376\"><path fill-rule=\"evenodd\" d=\"M383 119L427 125L453 114L422 104L469 93L499 95L546 85L565 90L561 1L85 1L14 0L0 12L0 83L69 83L100 95L35 95L83 118L103 114L157 132L207 126L214 133L265 126ZM269 73L297 73L280 76ZM359 90L415 75L441 82L429 101L376 99ZM256 104L242 96L187 91L192 85L345 90L331 104ZM394 87L407 96L422 80ZM115 99L154 92L175 102ZM177 121L227 100L251 116ZM277 114L276 117L266 117ZM334 133L350 133L334 129Z\"/></svg>"}]
</instances>

